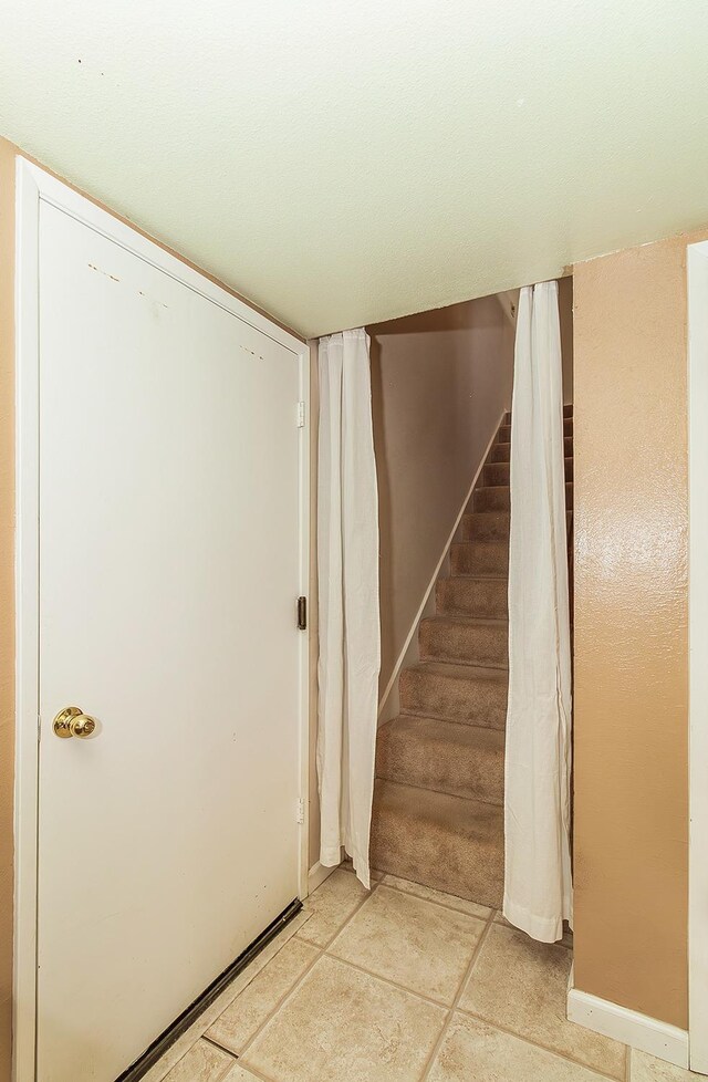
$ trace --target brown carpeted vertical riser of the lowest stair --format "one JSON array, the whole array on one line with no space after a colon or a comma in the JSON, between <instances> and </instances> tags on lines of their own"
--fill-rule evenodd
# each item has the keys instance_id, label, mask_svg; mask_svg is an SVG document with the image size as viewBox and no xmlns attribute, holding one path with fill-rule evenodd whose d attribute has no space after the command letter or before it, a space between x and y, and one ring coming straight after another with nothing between
<instances>
[{"instance_id":1,"label":"brown carpeted vertical riser of the lowest stair","mask_svg":"<svg viewBox=\"0 0 708 1082\"><path fill-rule=\"evenodd\" d=\"M391 875L499 909L504 878L503 832L500 833L494 845L471 843L438 823L392 810L375 792L371 863Z\"/></svg>"}]
</instances>

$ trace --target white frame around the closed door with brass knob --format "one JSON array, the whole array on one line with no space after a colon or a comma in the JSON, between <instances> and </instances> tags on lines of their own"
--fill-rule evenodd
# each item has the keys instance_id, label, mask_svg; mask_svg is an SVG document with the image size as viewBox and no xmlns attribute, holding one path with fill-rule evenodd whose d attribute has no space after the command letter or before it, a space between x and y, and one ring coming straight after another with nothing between
<instances>
[{"instance_id":1,"label":"white frame around the closed door with brass knob","mask_svg":"<svg viewBox=\"0 0 708 1082\"><path fill-rule=\"evenodd\" d=\"M263 332L299 358L300 399L300 582L295 601L308 594L310 549L310 351L300 339L271 323L226 289L136 232L55 177L23 158L17 163L15 381L17 381L17 556L15 556L15 897L13 1079L35 1073L37 889L39 799L39 215L44 201L169 274L194 292ZM293 416L293 425L298 424ZM308 893L309 634L300 637L300 828L299 893Z\"/></svg>"}]
</instances>

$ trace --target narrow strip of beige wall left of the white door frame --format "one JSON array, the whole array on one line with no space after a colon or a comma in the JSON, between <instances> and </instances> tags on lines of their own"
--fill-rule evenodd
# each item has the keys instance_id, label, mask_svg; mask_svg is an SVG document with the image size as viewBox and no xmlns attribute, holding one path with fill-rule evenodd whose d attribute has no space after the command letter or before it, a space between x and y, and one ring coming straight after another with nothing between
<instances>
[{"instance_id":1,"label":"narrow strip of beige wall left of the white door frame","mask_svg":"<svg viewBox=\"0 0 708 1082\"><path fill-rule=\"evenodd\" d=\"M14 761L14 148L0 139L0 1082L12 1036Z\"/></svg>"}]
</instances>

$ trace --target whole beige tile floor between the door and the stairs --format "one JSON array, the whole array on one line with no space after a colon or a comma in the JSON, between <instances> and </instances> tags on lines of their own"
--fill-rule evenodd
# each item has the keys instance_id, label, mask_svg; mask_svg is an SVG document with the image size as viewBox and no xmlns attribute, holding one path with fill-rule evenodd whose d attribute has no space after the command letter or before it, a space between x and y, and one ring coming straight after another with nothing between
<instances>
[{"instance_id":1,"label":"whole beige tile floor between the door and the stairs","mask_svg":"<svg viewBox=\"0 0 708 1082\"><path fill-rule=\"evenodd\" d=\"M146 1082L688 1082L565 1019L572 940L337 868Z\"/></svg>"}]
</instances>

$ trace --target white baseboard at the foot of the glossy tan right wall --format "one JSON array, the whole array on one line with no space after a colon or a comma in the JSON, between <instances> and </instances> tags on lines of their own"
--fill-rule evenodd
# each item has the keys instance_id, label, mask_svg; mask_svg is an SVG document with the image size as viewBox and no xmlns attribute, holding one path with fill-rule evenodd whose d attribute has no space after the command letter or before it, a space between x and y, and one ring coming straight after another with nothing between
<instances>
[{"instance_id":1,"label":"white baseboard at the foot of the glossy tan right wall","mask_svg":"<svg viewBox=\"0 0 708 1082\"><path fill-rule=\"evenodd\" d=\"M571 972L571 981L572 979ZM595 1033L611 1037L688 1070L688 1033L677 1026L591 996L590 992L573 988L572 984L568 989L568 1018Z\"/></svg>"}]
</instances>

